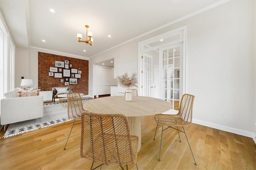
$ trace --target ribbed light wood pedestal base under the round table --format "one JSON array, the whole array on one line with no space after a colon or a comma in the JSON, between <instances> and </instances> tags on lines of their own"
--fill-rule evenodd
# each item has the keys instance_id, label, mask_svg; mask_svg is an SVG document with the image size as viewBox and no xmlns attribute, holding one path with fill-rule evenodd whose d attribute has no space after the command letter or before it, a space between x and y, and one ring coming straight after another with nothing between
<instances>
[{"instance_id":1,"label":"ribbed light wood pedestal base under the round table","mask_svg":"<svg viewBox=\"0 0 256 170\"><path fill-rule=\"evenodd\" d=\"M138 141L138 152L141 148L141 116L137 117L127 117L128 119L128 125L130 128L130 134L136 135L139 137Z\"/></svg>"}]
</instances>

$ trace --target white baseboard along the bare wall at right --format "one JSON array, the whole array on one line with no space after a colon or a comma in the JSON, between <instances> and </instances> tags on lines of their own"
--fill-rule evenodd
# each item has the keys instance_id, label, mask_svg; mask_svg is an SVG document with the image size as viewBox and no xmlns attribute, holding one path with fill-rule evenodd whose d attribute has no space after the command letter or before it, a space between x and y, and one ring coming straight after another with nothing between
<instances>
[{"instance_id":1,"label":"white baseboard along the bare wall at right","mask_svg":"<svg viewBox=\"0 0 256 170\"><path fill-rule=\"evenodd\" d=\"M253 133L253 132L244 131L244 130L241 130L241 129L236 129L236 128L233 128L233 127L227 127L227 126L218 125L218 124L214 124L214 123L209 123L209 122L206 122L206 121L200 121L200 120L197 120L197 119L193 119L192 123L196 123L198 125L204 125L204 126L207 126L207 127L212 127L212 128L215 128L215 129L219 129L219 130L222 130L222 131L227 131L227 132L230 132L230 133L235 133L235 134L246 136L246 137L251 137L254 140L254 142L256 143L255 133Z\"/></svg>"}]
</instances>

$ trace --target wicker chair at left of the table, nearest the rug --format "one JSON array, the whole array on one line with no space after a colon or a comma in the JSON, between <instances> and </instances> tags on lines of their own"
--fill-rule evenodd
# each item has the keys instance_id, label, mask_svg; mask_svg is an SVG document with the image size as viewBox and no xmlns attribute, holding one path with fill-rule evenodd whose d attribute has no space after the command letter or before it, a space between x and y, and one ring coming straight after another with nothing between
<instances>
[{"instance_id":1,"label":"wicker chair at left of the table, nearest the rug","mask_svg":"<svg viewBox=\"0 0 256 170\"><path fill-rule=\"evenodd\" d=\"M76 93L76 92L68 93L67 100L68 100L68 117L70 119L74 120L74 123L72 124L72 127L70 129L70 133L68 135L68 139L69 139L71 131L73 129L73 126L75 125L75 121L81 120L81 115L86 110L84 110L84 108L83 108L82 99L81 99L81 96L79 93ZM76 124L78 124L78 123L76 123ZM66 145L68 143L68 139L66 141L64 150L66 150Z\"/></svg>"}]
</instances>

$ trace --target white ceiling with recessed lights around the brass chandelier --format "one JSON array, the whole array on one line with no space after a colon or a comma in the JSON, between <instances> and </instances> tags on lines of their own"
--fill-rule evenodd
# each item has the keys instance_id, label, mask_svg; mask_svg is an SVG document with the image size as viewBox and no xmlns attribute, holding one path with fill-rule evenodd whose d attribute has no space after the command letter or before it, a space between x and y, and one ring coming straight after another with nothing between
<instances>
[{"instance_id":1,"label":"white ceiling with recessed lights around the brass chandelier","mask_svg":"<svg viewBox=\"0 0 256 170\"><path fill-rule=\"evenodd\" d=\"M0 11L18 48L93 57L218 1L0 0ZM84 25L93 34L92 46L76 38L77 33L86 37Z\"/></svg>"}]
</instances>

